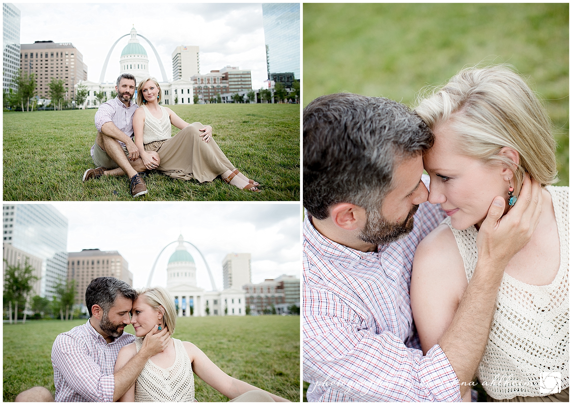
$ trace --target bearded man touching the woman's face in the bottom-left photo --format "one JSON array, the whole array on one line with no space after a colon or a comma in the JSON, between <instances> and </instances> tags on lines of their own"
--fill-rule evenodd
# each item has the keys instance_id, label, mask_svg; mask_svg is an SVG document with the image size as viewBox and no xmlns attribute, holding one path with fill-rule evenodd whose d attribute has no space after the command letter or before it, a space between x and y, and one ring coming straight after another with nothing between
<instances>
[{"instance_id":1,"label":"bearded man touching the woman's face in the bottom-left photo","mask_svg":"<svg viewBox=\"0 0 572 405\"><path fill-rule=\"evenodd\" d=\"M135 340L135 336L124 333L124 328L131 323L129 312L136 298L136 291L115 277L98 277L88 285L88 321L60 333L51 350L55 402L117 401L135 383L147 360L165 350L168 330L156 333L156 325L145 336L137 355L113 374L120 349ZM18 402L49 399L51 394L43 387L31 388L17 397Z\"/></svg>"}]
</instances>

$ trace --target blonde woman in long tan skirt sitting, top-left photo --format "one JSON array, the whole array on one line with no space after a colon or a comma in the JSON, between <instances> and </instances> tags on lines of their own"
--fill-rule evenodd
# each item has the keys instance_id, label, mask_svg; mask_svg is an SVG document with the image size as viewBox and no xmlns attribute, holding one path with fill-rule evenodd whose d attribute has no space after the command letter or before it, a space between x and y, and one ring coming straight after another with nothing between
<instances>
[{"instance_id":1,"label":"blonde woman in long tan skirt sitting, top-left photo","mask_svg":"<svg viewBox=\"0 0 572 405\"><path fill-rule=\"evenodd\" d=\"M200 122L189 124L171 109L159 105L162 93L156 79L148 77L137 86L133 114L134 142L145 167L157 169L172 178L198 182L221 178L243 190L259 192L259 185L240 173L212 138L212 127ZM181 129L171 137L171 124ZM159 160L150 154L157 152Z\"/></svg>"}]
</instances>

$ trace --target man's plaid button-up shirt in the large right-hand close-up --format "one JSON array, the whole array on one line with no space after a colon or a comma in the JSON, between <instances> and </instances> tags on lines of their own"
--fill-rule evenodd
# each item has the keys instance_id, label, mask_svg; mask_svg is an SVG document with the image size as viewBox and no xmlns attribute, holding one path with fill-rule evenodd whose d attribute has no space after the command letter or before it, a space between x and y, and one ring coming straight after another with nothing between
<instances>
[{"instance_id":1,"label":"man's plaid button-up shirt in the large right-hand close-up","mask_svg":"<svg viewBox=\"0 0 572 405\"><path fill-rule=\"evenodd\" d=\"M425 202L409 235L368 253L337 244L304 221L303 374L311 383L309 402L462 399L443 350L435 345L423 356L409 296L415 249L444 216L438 205Z\"/></svg>"}]
</instances>

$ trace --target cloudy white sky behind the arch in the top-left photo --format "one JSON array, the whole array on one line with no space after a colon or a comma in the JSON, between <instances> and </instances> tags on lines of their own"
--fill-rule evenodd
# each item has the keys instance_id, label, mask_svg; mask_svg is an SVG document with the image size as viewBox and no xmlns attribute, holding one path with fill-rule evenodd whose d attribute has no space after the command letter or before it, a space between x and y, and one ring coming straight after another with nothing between
<instances>
[{"instance_id":1,"label":"cloudy white sky behind the arch in the top-left photo","mask_svg":"<svg viewBox=\"0 0 572 405\"><path fill-rule=\"evenodd\" d=\"M88 80L98 82L109 49L132 26L157 49L168 80L171 54L180 45L198 45L201 74L224 66L250 69L252 86L267 80L261 3L14 3L21 12L20 42L72 42L84 56ZM162 80L153 50L149 73ZM119 58L129 37L114 48L105 81L119 76Z\"/></svg>"}]
</instances>

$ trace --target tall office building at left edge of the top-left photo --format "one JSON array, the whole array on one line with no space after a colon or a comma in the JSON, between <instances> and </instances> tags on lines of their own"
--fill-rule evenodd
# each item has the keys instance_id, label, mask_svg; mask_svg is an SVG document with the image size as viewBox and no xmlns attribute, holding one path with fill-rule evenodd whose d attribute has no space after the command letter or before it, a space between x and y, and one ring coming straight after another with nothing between
<instances>
[{"instance_id":1,"label":"tall office building at left edge of the top-left photo","mask_svg":"<svg viewBox=\"0 0 572 405\"><path fill-rule=\"evenodd\" d=\"M20 10L12 3L2 3L3 42L2 89L17 90L13 83L20 69Z\"/></svg>"}]
</instances>

